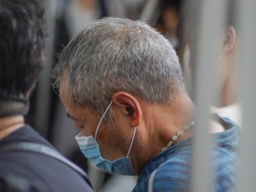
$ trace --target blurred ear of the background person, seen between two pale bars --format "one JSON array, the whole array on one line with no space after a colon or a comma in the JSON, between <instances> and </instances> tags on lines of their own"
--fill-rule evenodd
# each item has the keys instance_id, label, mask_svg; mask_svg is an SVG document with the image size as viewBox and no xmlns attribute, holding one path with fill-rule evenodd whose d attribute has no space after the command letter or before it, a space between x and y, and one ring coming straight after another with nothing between
<instances>
[{"instance_id":1,"label":"blurred ear of the background person, seen between two pale bars","mask_svg":"<svg viewBox=\"0 0 256 192\"><path fill-rule=\"evenodd\" d=\"M228 26L225 30L225 40L223 49L225 53L234 51L236 47L236 29L233 26Z\"/></svg>"}]
</instances>

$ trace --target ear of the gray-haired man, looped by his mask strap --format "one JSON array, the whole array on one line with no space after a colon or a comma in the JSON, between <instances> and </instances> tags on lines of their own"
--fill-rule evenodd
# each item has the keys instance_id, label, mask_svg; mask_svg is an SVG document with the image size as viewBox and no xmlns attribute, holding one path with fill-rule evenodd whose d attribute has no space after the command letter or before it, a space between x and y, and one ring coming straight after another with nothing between
<instances>
[{"instance_id":1,"label":"ear of the gray-haired man, looped by his mask strap","mask_svg":"<svg viewBox=\"0 0 256 192\"><path fill-rule=\"evenodd\" d=\"M124 115L131 120L132 127L141 124L142 110L138 100L126 92L117 92L112 97L113 108L117 113Z\"/></svg>"}]
</instances>

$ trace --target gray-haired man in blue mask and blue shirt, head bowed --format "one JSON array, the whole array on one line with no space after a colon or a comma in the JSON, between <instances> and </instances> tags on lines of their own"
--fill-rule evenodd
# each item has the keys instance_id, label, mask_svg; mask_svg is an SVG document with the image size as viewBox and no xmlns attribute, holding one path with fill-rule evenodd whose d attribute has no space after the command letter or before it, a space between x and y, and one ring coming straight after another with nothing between
<instances>
[{"instance_id":1,"label":"gray-haired man in blue mask and blue shirt, head bowed","mask_svg":"<svg viewBox=\"0 0 256 192\"><path fill-rule=\"evenodd\" d=\"M134 191L188 191L195 107L166 38L140 21L96 20L65 47L53 76L93 164L140 175ZM236 129L227 118L212 120L216 191L234 182Z\"/></svg>"}]
</instances>

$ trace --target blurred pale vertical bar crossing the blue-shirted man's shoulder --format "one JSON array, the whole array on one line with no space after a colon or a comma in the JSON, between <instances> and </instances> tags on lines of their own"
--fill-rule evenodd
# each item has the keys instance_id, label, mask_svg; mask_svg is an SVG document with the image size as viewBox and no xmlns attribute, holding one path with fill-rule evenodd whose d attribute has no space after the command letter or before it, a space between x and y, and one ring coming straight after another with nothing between
<instances>
[{"instance_id":1,"label":"blurred pale vertical bar crossing the blue-shirted man's shoulder","mask_svg":"<svg viewBox=\"0 0 256 192\"><path fill-rule=\"evenodd\" d=\"M212 191L214 161L211 160L209 136L209 106L218 98L218 68L214 61L220 48L220 31L223 30L225 3L221 0L194 1L200 8L199 38L196 62L196 127L193 143L192 191ZM201 3L201 4L200 4ZM219 41L218 41L219 40ZM220 51L219 51L220 52Z\"/></svg>"}]
</instances>

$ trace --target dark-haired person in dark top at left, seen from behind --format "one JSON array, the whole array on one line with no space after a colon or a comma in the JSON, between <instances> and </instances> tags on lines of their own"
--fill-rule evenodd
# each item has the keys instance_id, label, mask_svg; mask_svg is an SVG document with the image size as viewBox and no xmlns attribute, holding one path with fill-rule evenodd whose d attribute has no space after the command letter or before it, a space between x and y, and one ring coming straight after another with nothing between
<instances>
[{"instance_id":1,"label":"dark-haired person in dark top at left, seen from behind","mask_svg":"<svg viewBox=\"0 0 256 192\"><path fill-rule=\"evenodd\" d=\"M0 0L0 191L92 191L86 173L24 123L42 69L43 3Z\"/></svg>"}]
</instances>

